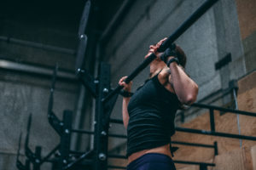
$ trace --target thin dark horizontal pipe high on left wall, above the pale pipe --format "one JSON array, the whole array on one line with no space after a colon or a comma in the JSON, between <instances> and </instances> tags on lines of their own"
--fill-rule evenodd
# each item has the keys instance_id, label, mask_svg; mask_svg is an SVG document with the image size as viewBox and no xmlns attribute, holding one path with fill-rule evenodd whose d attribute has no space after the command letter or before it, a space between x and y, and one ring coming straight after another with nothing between
<instances>
[{"instance_id":1,"label":"thin dark horizontal pipe high on left wall, above the pale pipe","mask_svg":"<svg viewBox=\"0 0 256 170\"><path fill-rule=\"evenodd\" d=\"M55 46L46 45L44 43L39 43L39 42L29 42L29 41L25 41L25 40L16 39L13 37L0 36L0 40L4 41L4 42L8 42L8 43L16 43L19 45L29 46L32 48L41 48L41 49L55 51L55 52L59 52L59 53L63 53L63 54L71 54L71 55L75 54L75 50L73 50L73 49L55 47Z\"/></svg>"}]
</instances>

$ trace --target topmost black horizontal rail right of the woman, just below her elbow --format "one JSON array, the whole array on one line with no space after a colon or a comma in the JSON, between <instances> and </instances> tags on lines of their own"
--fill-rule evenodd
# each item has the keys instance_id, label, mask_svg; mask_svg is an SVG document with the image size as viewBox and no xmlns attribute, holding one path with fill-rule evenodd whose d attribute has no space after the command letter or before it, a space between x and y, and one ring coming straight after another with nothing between
<instances>
[{"instance_id":1,"label":"topmost black horizontal rail right of the woman, just below her elbow","mask_svg":"<svg viewBox=\"0 0 256 170\"><path fill-rule=\"evenodd\" d=\"M218 106L215 106L215 105L204 105L204 104L195 103L192 106L205 108L205 109L212 109L212 110L217 110L217 111L237 113L237 114L240 114L240 115L256 116L256 113L253 113L253 112L232 110L232 109L227 109L227 108L223 108L223 107L218 107Z\"/></svg>"}]
</instances>

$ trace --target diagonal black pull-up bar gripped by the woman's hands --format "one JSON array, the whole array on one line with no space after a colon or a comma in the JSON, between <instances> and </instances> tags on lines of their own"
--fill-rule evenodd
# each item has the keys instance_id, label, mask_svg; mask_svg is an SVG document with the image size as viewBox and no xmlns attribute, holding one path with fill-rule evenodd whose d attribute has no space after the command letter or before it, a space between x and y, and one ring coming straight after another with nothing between
<instances>
[{"instance_id":1,"label":"diagonal black pull-up bar gripped by the woman's hands","mask_svg":"<svg viewBox=\"0 0 256 170\"><path fill-rule=\"evenodd\" d=\"M181 26L179 26L179 27L177 28L177 30L174 31L174 32L172 33L172 35L166 39L165 42L163 42L163 43L161 44L161 46L160 46L160 48L159 48L159 52L165 51L166 48L168 48L168 47L172 44L172 42L174 42L175 40L177 40L177 38L180 37L180 36L183 34L184 31L188 30L188 28L189 28L190 26L192 26L192 25L195 23L195 21L198 20L203 14L205 14L205 13L207 12L207 10L208 10L209 8L211 8L212 5L213 5L214 3L216 3L217 1L218 1L218 0L207 0L206 3L203 3L200 8L198 8L192 15L190 15L190 17L189 17L187 20L185 20L185 21L183 22L183 24L182 24ZM148 56L148 58L145 59L145 60L143 61L143 63L142 63L141 65L139 65L139 66L136 68L135 71L131 72L131 75L129 75L129 76L125 79L125 82L126 82L126 83L131 82L131 80L132 80L134 77L137 77L137 75L138 75L141 71L143 71L143 69L145 69L145 68L155 59L155 57L156 57L156 56L155 56L154 54L150 54L150 55ZM106 103L114 94L119 93L119 91L120 91L122 88L123 88L123 86L118 86L117 88L114 88L114 90L113 90L110 94L108 94L108 96L107 96L106 98L102 99L102 102L103 102L103 103Z\"/></svg>"}]
</instances>

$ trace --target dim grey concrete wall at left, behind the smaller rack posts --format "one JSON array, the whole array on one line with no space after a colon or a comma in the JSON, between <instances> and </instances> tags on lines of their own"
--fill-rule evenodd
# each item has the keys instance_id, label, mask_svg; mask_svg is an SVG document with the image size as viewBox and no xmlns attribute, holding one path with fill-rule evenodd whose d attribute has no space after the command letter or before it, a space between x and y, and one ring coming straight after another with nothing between
<instances>
[{"instance_id":1,"label":"dim grey concrete wall at left, behind the smaller rack posts","mask_svg":"<svg viewBox=\"0 0 256 170\"><path fill-rule=\"evenodd\" d=\"M9 20L1 19L0 24L0 36L2 37L13 37L60 48L76 49L76 35L76 31L70 30L68 26L62 27L57 24L44 25L38 21L33 22L32 20L19 17ZM40 65L51 68L58 62L60 69L74 71L75 56L72 54L64 54L1 41L0 56L1 59L13 60L17 63L29 63L29 65ZM40 145L43 147L43 156L46 156L56 144L59 144L60 137L50 127L47 119L50 84L50 77L38 77L37 75L1 69L0 169L16 169L15 154L18 149L19 135L21 132L23 133L23 138L20 159L25 162L22 156L24 156L26 124L30 113L32 113L32 127L29 147L32 151L34 151L36 145ZM84 92L82 91L82 93ZM62 112L64 110L71 110L74 111L73 122L78 122L77 124L79 124L80 120L75 119L77 114L83 115L83 113L77 111L79 94L80 86L78 81L72 82L57 79L54 111L60 120L62 120ZM88 119L86 121L88 122ZM87 144L90 142L89 139L86 141L88 141ZM73 140L73 144L75 142L76 140ZM86 147L85 143L82 147L83 150ZM50 165L46 164L42 169L49 169L49 167Z\"/></svg>"}]
</instances>

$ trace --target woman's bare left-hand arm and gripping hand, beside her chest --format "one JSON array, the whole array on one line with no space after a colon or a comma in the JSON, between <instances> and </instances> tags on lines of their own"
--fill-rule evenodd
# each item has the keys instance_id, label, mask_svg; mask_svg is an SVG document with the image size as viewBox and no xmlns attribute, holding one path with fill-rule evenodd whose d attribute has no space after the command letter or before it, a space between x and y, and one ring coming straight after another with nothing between
<instances>
[{"instance_id":1,"label":"woman's bare left-hand arm and gripping hand, beside her chest","mask_svg":"<svg viewBox=\"0 0 256 170\"><path fill-rule=\"evenodd\" d=\"M127 92L131 92L131 85L132 85L132 82L130 82L129 84L126 84L124 81L125 81L125 78L127 77L122 77L120 80L119 80L119 85L120 86L124 86L124 90L127 91ZM128 107L128 104L129 104L129 101L130 101L130 97L124 97L123 98L123 108L122 108L122 116L123 116L123 122L124 122L124 126L125 128L127 129L127 125L128 125L128 122L129 122L129 113L128 113L128 110L127 110L127 107Z\"/></svg>"}]
</instances>

